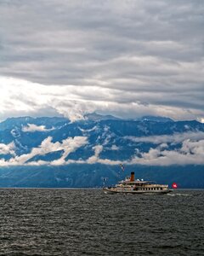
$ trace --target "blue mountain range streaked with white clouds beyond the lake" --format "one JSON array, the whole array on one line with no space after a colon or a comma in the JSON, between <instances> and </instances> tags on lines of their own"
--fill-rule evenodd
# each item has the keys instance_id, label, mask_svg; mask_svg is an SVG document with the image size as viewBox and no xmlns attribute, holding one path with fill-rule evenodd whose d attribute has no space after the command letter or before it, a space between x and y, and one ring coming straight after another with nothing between
<instances>
[{"instance_id":1,"label":"blue mountain range streaked with white clouds beyond the lake","mask_svg":"<svg viewBox=\"0 0 204 256\"><path fill-rule=\"evenodd\" d=\"M184 177L189 181L180 181L181 187L202 187L196 170L201 176L203 142L204 124L197 121L97 113L75 123L59 117L10 118L0 123L0 185L95 187L103 177L114 183L119 172L123 177L136 168L139 175L166 183L172 174L175 179L194 170L194 181Z\"/></svg>"}]
</instances>

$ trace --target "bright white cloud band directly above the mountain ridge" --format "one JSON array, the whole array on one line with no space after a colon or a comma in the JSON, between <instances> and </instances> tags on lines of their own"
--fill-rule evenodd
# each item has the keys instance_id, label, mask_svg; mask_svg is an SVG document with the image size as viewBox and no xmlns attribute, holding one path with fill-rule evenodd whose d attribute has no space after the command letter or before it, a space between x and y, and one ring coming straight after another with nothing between
<instances>
[{"instance_id":1,"label":"bright white cloud band directly above the mountain ridge","mask_svg":"<svg viewBox=\"0 0 204 256\"><path fill-rule=\"evenodd\" d=\"M97 85L43 85L21 79L0 77L0 116L64 115L71 121L83 119L86 113L113 113L125 118L144 114L173 119L197 119L204 115L199 108L183 108L157 102L158 92L124 91ZM142 100L144 97L144 100ZM164 96L163 96L164 97ZM169 92L165 97L169 97ZM142 100L142 101L141 101ZM143 102L149 102L143 103ZM34 129L34 127L32 126ZM43 129L42 127L39 129ZM31 131L31 127L30 127Z\"/></svg>"}]
</instances>

